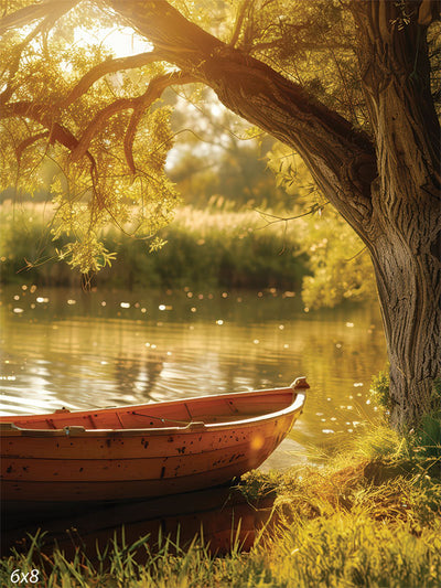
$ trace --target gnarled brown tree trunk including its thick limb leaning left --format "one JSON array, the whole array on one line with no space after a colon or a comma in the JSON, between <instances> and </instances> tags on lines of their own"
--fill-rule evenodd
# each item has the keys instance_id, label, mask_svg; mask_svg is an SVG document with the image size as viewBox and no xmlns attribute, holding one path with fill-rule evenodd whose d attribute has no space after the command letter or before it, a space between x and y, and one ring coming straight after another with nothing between
<instances>
[{"instance_id":1,"label":"gnarled brown tree trunk including its thick limb leaning left","mask_svg":"<svg viewBox=\"0 0 441 588\"><path fill-rule=\"evenodd\" d=\"M366 243L390 361L391 420L399 429L417 425L433 407L433 381L441 377L440 128L426 41L433 2L353 4L370 141L303 88L173 8L158 13L153 2L138 10L138 0L109 1L225 106L297 150Z\"/></svg>"}]
</instances>

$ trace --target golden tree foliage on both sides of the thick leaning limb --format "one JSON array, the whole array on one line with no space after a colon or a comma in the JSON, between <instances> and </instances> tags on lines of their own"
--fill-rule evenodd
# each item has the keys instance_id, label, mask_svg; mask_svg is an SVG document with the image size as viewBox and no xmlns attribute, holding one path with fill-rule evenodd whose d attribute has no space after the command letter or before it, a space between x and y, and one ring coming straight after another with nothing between
<instances>
[{"instance_id":1,"label":"golden tree foliage on both sides of the thick leaning limb","mask_svg":"<svg viewBox=\"0 0 441 588\"><path fill-rule=\"evenodd\" d=\"M114 4L18 0L3 11L1 149L8 165L2 167L0 185L33 193L50 184L57 205L54 236L65 232L72 238L60 255L83 272L110 263L99 237L109 222L141 238L151 238L170 222L179 202L164 173L173 133L170 108L158 100L168 86L195 81L171 68L159 44L115 58L105 38L115 19L119 25L125 20ZM372 132L353 15L341 2L230 0L196 7L176 0L174 6L240 54L257 56L300 84L354 129ZM406 22L402 9L398 26ZM440 46L433 29L435 64ZM439 98L435 78L433 92ZM235 141L230 156L226 171L215 172L223 185L232 183L239 163ZM50 170L49 182L47 173L36 173L42 167ZM244 167L237 172L247 173ZM288 183L284 175L278 173L278 182L289 191L298 182L295 174ZM236 193L237 184L230 186ZM252 188L244 186L244 193L252 196Z\"/></svg>"}]
</instances>

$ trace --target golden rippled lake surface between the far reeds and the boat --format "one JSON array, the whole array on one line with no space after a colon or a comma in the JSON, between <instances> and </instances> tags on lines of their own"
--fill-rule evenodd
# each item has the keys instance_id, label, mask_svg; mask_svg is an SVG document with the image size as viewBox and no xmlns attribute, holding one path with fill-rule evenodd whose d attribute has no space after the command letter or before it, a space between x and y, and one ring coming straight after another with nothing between
<instances>
[{"instance_id":1,"label":"golden rippled lake surface between the far reeds and the boat","mask_svg":"<svg viewBox=\"0 0 441 588\"><path fill-rule=\"evenodd\" d=\"M306 309L308 310L308 309ZM376 304L305 311L293 292L111 292L3 287L2 415L105 407L289 385L304 414L287 450L341 443L375 417L386 364ZM304 451L303 451L304 453Z\"/></svg>"}]
</instances>

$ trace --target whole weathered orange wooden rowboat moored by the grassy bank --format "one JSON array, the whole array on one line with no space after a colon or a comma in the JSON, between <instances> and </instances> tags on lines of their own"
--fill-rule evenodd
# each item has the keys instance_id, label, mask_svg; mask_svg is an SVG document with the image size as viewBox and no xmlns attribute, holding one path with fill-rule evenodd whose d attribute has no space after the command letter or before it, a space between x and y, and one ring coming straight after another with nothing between
<instances>
[{"instance_id":1,"label":"whole weathered orange wooden rowboat moored by the grassy bank","mask_svg":"<svg viewBox=\"0 0 441 588\"><path fill-rule=\"evenodd\" d=\"M4 502L120 501L222 484L257 468L309 385L120 408L0 417Z\"/></svg>"}]
</instances>

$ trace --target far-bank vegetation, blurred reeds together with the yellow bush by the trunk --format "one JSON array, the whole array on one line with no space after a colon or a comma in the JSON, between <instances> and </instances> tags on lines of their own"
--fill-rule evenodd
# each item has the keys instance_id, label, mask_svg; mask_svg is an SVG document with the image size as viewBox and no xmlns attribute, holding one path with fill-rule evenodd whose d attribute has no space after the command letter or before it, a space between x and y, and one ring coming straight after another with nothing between
<instances>
[{"instance_id":1,"label":"far-bank vegetation, blurred reeds together with the yellow bush by the trunk","mask_svg":"<svg viewBox=\"0 0 441 588\"><path fill-rule=\"evenodd\" d=\"M58 261L64 240L53 240L51 216L52 205L42 202L0 205L3 284L23 276L36 285L78 282L79 275ZM151 253L149 242L109 226L104 243L115 260L94 281L129 289L303 287L309 308L375 296L369 258L334 211L326 209L321 217L284 218L283 211L261 213L214 197L202 210L179 209L160 234L165 245Z\"/></svg>"}]
</instances>

